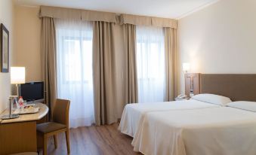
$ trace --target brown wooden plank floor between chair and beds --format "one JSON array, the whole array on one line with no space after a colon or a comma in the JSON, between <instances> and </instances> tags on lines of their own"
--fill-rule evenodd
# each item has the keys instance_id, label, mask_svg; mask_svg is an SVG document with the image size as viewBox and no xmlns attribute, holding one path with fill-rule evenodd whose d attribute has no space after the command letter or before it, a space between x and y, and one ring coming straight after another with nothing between
<instances>
[{"instance_id":1,"label":"brown wooden plank floor between chair and beds","mask_svg":"<svg viewBox=\"0 0 256 155\"><path fill-rule=\"evenodd\" d=\"M117 128L118 124L70 129L70 154L141 155L141 153L134 152L131 146L132 138L122 134ZM56 150L54 149L53 138L48 141L48 154L67 154L64 134L58 135L58 148ZM42 151L40 154L42 154Z\"/></svg>"}]
</instances>

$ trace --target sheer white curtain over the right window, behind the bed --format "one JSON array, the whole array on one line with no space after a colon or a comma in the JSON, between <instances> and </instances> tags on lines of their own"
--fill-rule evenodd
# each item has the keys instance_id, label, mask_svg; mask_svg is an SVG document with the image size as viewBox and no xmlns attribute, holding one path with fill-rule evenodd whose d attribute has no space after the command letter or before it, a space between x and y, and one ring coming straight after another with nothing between
<instances>
[{"instance_id":1,"label":"sheer white curtain over the right window, behind the bed","mask_svg":"<svg viewBox=\"0 0 256 155\"><path fill-rule=\"evenodd\" d=\"M165 100L165 35L163 28L136 26L139 102Z\"/></svg>"}]
</instances>

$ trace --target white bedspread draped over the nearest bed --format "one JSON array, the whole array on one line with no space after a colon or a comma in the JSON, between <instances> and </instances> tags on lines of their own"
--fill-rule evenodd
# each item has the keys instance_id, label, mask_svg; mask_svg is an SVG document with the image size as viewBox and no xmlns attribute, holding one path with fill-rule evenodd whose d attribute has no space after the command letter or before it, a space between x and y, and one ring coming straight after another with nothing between
<instances>
[{"instance_id":1,"label":"white bedspread draped over the nearest bed","mask_svg":"<svg viewBox=\"0 0 256 155\"><path fill-rule=\"evenodd\" d=\"M150 112L132 144L147 155L255 155L256 113L236 108Z\"/></svg>"}]
</instances>

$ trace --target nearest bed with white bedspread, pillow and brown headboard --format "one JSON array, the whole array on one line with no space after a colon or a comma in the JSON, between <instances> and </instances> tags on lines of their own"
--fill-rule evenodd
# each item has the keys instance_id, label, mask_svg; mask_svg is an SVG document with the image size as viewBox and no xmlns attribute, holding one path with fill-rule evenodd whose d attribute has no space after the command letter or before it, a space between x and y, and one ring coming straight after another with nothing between
<instances>
[{"instance_id":1,"label":"nearest bed with white bedspread, pillow and brown headboard","mask_svg":"<svg viewBox=\"0 0 256 155\"><path fill-rule=\"evenodd\" d=\"M256 75L202 74L200 93L254 101L252 106L153 111L134 135L135 151L147 155L253 155L256 153ZM236 104L235 104L236 105Z\"/></svg>"}]
</instances>

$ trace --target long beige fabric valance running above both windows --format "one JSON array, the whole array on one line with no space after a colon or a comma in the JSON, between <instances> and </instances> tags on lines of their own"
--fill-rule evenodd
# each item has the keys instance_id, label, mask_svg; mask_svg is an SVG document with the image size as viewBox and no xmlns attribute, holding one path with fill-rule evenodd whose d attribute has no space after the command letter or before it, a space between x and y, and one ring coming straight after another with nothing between
<instances>
[{"instance_id":1,"label":"long beige fabric valance running above both windows","mask_svg":"<svg viewBox=\"0 0 256 155\"><path fill-rule=\"evenodd\" d=\"M39 17L51 17L72 20L103 21L119 24L133 24L143 26L170 27L177 29L177 20L159 17L146 17L131 14L117 15L115 13L88 11L72 8L58 8L41 6Z\"/></svg>"}]
</instances>

